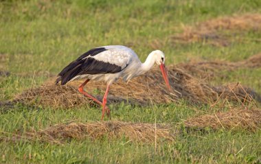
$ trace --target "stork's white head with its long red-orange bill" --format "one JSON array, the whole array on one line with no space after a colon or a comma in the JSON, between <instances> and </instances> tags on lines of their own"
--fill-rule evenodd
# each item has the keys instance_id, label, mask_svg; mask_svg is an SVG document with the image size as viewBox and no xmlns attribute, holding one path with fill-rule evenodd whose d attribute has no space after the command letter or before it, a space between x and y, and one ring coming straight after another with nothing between
<instances>
[{"instance_id":1,"label":"stork's white head with its long red-orange bill","mask_svg":"<svg viewBox=\"0 0 261 164\"><path fill-rule=\"evenodd\" d=\"M163 51L160 51L160 50L152 51L152 53L155 56L155 62L157 63L157 65L159 65L159 67L161 69L163 79L166 82L168 89L170 89L170 83L168 82L168 73L167 73L166 67L165 67L165 54L163 53Z\"/></svg>"}]
</instances>

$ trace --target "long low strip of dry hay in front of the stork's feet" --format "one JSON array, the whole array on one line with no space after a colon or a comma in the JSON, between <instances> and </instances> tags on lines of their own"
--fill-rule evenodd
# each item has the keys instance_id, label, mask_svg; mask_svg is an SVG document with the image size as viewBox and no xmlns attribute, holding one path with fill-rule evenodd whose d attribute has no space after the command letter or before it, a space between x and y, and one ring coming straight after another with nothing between
<instances>
[{"instance_id":1,"label":"long low strip of dry hay in front of the stork's feet","mask_svg":"<svg viewBox=\"0 0 261 164\"><path fill-rule=\"evenodd\" d=\"M104 137L109 139L125 137L131 141L153 142L155 140L174 141L175 132L170 126L163 124L98 121L85 124L74 122L59 124L30 135L54 143L67 139L102 139Z\"/></svg>"}]
</instances>

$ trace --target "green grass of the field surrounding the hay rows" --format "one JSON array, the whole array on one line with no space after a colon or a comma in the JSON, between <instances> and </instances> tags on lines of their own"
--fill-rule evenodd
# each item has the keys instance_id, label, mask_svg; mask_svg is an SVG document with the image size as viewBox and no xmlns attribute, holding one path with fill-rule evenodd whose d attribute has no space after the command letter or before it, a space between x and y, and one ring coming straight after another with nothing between
<instances>
[{"instance_id":1,"label":"green grass of the field surrounding the hay rows","mask_svg":"<svg viewBox=\"0 0 261 164\"><path fill-rule=\"evenodd\" d=\"M246 32L241 42L228 47L203 43L173 43L183 25L231 14L261 13L260 1L1 1L0 64L9 77L0 77L0 100L12 99L24 89L38 86L49 73L58 73L71 60L92 47L128 45L141 60L158 47L167 65L204 60L239 61L261 52L254 39L260 31ZM261 93L260 69L225 71L214 84L241 82ZM176 124L203 113L207 106L178 102L150 107L112 105L112 118L120 121ZM17 105L0 115L0 136L44 129L77 119L100 120L100 108L82 106L66 110ZM173 143L133 143L126 139L68 141L64 145L40 141L0 139L1 163L261 163L261 131L209 130L181 133Z\"/></svg>"}]
</instances>

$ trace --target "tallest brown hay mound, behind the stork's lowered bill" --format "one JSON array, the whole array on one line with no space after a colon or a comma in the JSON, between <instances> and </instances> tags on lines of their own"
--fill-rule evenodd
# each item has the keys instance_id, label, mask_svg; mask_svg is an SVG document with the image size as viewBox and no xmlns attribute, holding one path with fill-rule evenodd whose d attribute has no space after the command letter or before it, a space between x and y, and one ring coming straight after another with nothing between
<instances>
[{"instance_id":1,"label":"tallest brown hay mound, behind the stork's lowered bill","mask_svg":"<svg viewBox=\"0 0 261 164\"><path fill-rule=\"evenodd\" d=\"M141 75L126 84L119 80L115 82L109 91L110 95L131 99L139 104L163 104L175 102L178 99L188 99L192 103L209 103L218 98L218 94L206 84L177 67L168 67L168 77L172 91L168 91L158 68L153 68L146 75ZM79 82L71 83L78 86ZM87 91L93 89L105 91L106 84L103 82L90 82ZM102 93L103 94L103 93ZM210 98L209 98L210 97Z\"/></svg>"}]
</instances>

